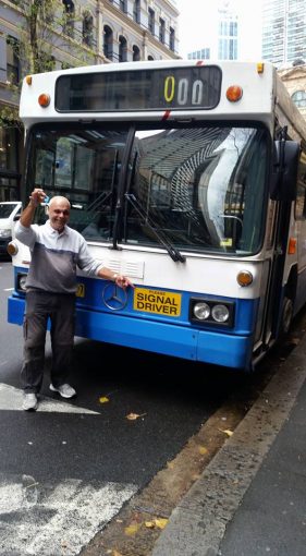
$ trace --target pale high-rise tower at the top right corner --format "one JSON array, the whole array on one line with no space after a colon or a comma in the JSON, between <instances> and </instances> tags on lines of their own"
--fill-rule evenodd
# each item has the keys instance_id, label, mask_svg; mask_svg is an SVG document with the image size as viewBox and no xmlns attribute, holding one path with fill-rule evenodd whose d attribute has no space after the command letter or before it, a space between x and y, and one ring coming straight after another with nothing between
<instances>
[{"instance_id":1,"label":"pale high-rise tower at the top right corner","mask_svg":"<svg viewBox=\"0 0 306 556\"><path fill-rule=\"evenodd\" d=\"M306 0L262 0L262 59L306 61Z\"/></svg>"}]
</instances>

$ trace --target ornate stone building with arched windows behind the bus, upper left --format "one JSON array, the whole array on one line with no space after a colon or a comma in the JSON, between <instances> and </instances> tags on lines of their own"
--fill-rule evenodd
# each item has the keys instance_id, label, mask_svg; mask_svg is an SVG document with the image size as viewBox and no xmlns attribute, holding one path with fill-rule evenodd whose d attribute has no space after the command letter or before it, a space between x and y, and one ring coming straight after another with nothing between
<instances>
[{"instance_id":1,"label":"ornate stone building with arched windows behind the bus, upper left","mask_svg":"<svg viewBox=\"0 0 306 556\"><path fill-rule=\"evenodd\" d=\"M0 201L21 194L24 136L12 113L19 106L19 83L28 72L33 3L0 0ZM174 0L49 0L46 5L37 29L49 69L179 58Z\"/></svg>"}]
</instances>

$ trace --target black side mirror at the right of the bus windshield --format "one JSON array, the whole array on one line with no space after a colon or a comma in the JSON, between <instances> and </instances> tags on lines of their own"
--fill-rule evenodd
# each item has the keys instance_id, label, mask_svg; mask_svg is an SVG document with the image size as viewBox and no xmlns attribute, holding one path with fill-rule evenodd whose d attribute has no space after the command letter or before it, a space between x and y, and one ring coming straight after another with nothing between
<instances>
[{"instance_id":1,"label":"black side mirror at the right of the bus windshield","mask_svg":"<svg viewBox=\"0 0 306 556\"><path fill-rule=\"evenodd\" d=\"M296 197L299 143L276 141L270 196L273 201L294 201Z\"/></svg>"}]
</instances>

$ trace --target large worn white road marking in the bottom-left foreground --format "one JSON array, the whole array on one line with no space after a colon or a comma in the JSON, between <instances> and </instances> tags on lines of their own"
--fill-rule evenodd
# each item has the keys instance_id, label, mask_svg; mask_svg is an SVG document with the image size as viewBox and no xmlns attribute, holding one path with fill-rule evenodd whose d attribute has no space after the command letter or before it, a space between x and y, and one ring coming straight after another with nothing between
<instances>
[{"instance_id":1,"label":"large worn white road marking in the bottom-left foreground","mask_svg":"<svg viewBox=\"0 0 306 556\"><path fill-rule=\"evenodd\" d=\"M73 479L51 486L11 476L0 485L0 554L77 555L137 489Z\"/></svg>"}]
</instances>

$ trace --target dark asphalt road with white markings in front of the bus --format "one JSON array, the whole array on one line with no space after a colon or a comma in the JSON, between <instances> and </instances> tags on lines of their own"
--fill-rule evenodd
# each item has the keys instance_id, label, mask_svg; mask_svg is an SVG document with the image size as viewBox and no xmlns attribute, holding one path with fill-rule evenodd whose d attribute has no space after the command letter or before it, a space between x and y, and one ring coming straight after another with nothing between
<instances>
[{"instance_id":1,"label":"dark asphalt road with white markings in front of the bus","mask_svg":"<svg viewBox=\"0 0 306 556\"><path fill-rule=\"evenodd\" d=\"M11 263L0 262L0 555L73 556L245 378L76 338L78 395L64 402L49 390L48 340L42 402L23 412L22 329L7 323L11 288Z\"/></svg>"}]
</instances>

